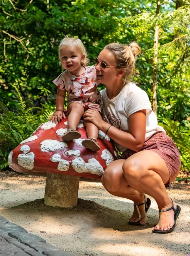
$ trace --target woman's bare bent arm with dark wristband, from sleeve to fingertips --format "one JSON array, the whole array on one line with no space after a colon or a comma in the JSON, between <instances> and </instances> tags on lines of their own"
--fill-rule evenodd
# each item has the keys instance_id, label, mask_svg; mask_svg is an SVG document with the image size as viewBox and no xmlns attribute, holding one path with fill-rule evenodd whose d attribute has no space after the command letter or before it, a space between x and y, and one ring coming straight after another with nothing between
<instances>
[{"instance_id":1,"label":"woman's bare bent arm with dark wristband, from sleeve to fingertips","mask_svg":"<svg viewBox=\"0 0 190 256\"><path fill-rule=\"evenodd\" d=\"M101 115L95 110L87 110L84 120L91 121L99 130L106 133L109 123L102 120ZM146 109L140 110L129 116L129 133L111 126L107 135L116 143L134 150L140 151L144 145L146 134Z\"/></svg>"}]
</instances>

